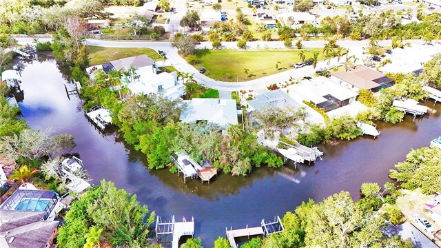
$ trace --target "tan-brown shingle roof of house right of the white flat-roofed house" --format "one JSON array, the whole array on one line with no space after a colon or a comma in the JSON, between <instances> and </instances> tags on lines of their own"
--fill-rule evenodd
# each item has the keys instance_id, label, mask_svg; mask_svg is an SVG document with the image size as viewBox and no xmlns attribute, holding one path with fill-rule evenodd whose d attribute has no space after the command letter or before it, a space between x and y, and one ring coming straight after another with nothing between
<instances>
[{"instance_id":1,"label":"tan-brown shingle roof of house right of the white flat-roofed house","mask_svg":"<svg viewBox=\"0 0 441 248\"><path fill-rule=\"evenodd\" d=\"M359 89L371 90L380 86L373 80L384 76L381 72L367 68L365 65L357 65L355 68L349 68L347 72L333 72L332 76L345 81Z\"/></svg>"}]
</instances>

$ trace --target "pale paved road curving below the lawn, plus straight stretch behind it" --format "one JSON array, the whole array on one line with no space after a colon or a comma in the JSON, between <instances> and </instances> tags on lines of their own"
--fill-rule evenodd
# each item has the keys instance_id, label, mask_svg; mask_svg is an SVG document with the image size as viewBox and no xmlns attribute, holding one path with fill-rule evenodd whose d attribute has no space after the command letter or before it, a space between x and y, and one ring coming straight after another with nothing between
<instances>
[{"instance_id":1,"label":"pale paved road curving below the lawn, plus straight stretch behind it","mask_svg":"<svg viewBox=\"0 0 441 248\"><path fill-rule=\"evenodd\" d=\"M32 43L31 38L19 38L20 43ZM50 41L50 39L41 39L41 41ZM185 59L178 55L176 48L172 47L170 42L143 42L143 41L102 41L102 40L86 40L88 45L97 45L109 48L152 48L156 51L163 50L167 54L167 64L173 65L176 70L181 72L189 72L194 74L194 79L205 87L210 87L216 90L223 90L231 92L233 90L263 90L272 83L283 83L289 81L292 77L294 79L301 79L303 76L313 74L314 70L311 66L307 66L299 69L290 69L283 72L272 74L262 77L260 79L253 79L246 82L224 82L210 79L209 77L201 74L192 65L189 65ZM327 41L303 41L305 48L322 48ZM356 54L361 59L362 47L367 46L369 41L338 41L338 45L349 48L350 54ZM379 41L380 45L390 45L391 41ZM413 40L413 44L422 44L423 41ZM203 43L209 48L209 43ZM237 48L236 42L223 42L225 48ZM249 42L251 48L285 48L283 42L280 41L253 41ZM331 65L336 64L336 59L331 61ZM320 62L317 68L325 68L325 62Z\"/></svg>"}]
</instances>

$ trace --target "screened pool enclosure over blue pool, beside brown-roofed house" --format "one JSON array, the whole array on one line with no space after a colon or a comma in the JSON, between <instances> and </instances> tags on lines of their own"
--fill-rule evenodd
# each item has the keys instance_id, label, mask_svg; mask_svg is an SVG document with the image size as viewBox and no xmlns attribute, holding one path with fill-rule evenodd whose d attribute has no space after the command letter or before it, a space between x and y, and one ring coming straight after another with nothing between
<instances>
[{"instance_id":1,"label":"screened pool enclosure over blue pool, beside brown-roofed house","mask_svg":"<svg viewBox=\"0 0 441 248\"><path fill-rule=\"evenodd\" d=\"M44 220L53 220L59 198L52 190L17 189L1 205L1 210L43 212Z\"/></svg>"}]
</instances>

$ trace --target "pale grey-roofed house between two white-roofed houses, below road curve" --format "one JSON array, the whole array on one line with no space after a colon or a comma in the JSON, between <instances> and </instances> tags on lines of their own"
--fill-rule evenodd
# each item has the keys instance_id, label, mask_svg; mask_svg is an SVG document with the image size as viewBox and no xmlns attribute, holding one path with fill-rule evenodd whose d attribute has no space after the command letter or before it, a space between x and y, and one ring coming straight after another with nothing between
<instances>
[{"instance_id":1,"label":"pale grey-roofed house between two white-roofed houses, below road curve","mask_svg":"<svg viewBox=\"0 0 441 248\"><path fill-rule=\"evenodd\" d=\"M248 103L248 110L259 111L265 106L269 107L292 107L294 110L298 109L302 105L295 101L291 96L283 92L283 90L273 90L270 92L266 92L264 94L259 94L256 96L256 99L250 100Z\"/></svg>"}]
</instances>

